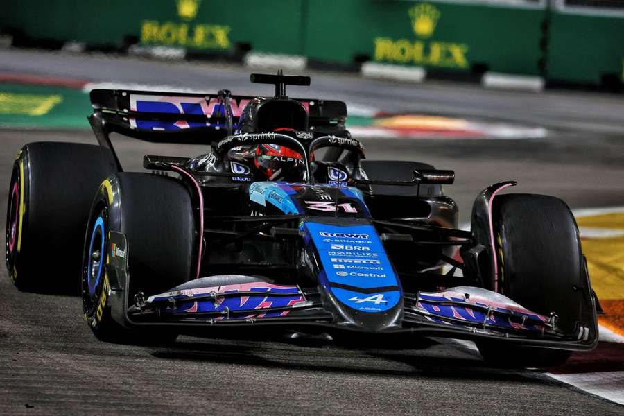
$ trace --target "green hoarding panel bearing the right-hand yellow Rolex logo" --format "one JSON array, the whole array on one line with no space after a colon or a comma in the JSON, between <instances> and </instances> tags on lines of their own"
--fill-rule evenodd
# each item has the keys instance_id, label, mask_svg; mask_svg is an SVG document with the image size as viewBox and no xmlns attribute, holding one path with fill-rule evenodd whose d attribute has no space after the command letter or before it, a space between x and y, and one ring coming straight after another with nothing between
<instances>
[{"instance_id":1,"label":"green hoarding panel bearing the right-hand yellow Rolex logo","mask_svg":"<svg viewBox=\"0 0 624 416\"><path fill-rule=\"evenodd\" d=\"M306 55L539 74L544 6L400 0L310 0Z\"/></svg>"}]
</instances>

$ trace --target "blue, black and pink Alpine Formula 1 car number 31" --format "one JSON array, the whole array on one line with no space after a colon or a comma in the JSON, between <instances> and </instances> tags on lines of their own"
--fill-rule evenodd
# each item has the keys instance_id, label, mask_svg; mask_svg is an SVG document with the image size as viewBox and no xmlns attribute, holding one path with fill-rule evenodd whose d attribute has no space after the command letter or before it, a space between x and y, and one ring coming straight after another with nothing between
<instances>
[{"instance_id":1,"label":"blue, black and pink Alpine Formula 1 car number 31","mask_svg":"<svg viewBox=\"0 0 624 416\"><path fill-rule=\"evenodd\" d=\"M113 342L218 328L413 333L527 366L596 346L596 298L562 200L493 184L471 230L458 229L442 193L453 171L365 159L345 103L286 96L309 77L251 81L275 96L94 89L99 146L24 146L7 210L15 284L81 275L89 327ZM152 173L124 172L112 132L211 151L146 155Z\"/></svg>"}]
</instances>

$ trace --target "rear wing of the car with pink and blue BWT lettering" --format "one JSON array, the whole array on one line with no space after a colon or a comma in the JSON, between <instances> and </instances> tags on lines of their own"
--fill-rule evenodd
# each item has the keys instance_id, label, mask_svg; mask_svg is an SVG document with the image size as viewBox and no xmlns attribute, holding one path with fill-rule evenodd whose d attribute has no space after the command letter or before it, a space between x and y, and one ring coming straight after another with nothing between
<instances>
[{"instance_id":1,"label":"rear wing of the car with pink and blue BWT lettering","mask_svg":"<svg viewBox=\"0 0 624 416\"><path fill-rule=\"evenodd\" d=\"M93 89L89 96L94 110L89 123L103 146L107 144L101 136L110 144L110 132L145 141L210 144L227 135L228 113L235 129L245 105L254 99L229 96L227 91L189 94L121 89ZM295 99L306 108L309 125L315 130L345 128L347 105L342 101Z\"/></svg>"}]
</instances>

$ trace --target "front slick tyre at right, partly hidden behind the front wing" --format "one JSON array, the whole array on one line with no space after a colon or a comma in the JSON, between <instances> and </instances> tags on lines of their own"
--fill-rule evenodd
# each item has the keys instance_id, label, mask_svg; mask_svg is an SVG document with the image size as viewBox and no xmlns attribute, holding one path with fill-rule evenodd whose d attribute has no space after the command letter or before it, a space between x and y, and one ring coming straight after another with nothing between
<instances>
[{"instance_id":1,"label":"front slick tyre at right, partly hidden behind the front wing","mask_svg":"<svg viewBox=\"0 0 624 416\"><path fill-rule=\"evenodd\" d=\"M558 198L509 194L494 200L492 212L499 292L531 311L557 315L556 329L572 333L582 316L585 267L578 228ZM488 361L514 367L551 367L571 352L481 342Z\"/></svg>"}]
</instances>

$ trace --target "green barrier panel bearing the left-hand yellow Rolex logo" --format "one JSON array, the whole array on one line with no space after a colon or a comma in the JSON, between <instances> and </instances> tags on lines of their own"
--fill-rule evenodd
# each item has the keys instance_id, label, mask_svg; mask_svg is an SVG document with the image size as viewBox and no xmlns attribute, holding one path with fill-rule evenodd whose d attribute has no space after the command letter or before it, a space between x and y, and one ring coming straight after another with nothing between
<instances>
[{"instance_id":1,"label":"green barrier panel bearing the left-hand yellow Rolex logo","mask_svg":"<svg viewBox=\"0 0 624 416\"><path fill-rule=\"evenodd\" d=\"M302 55L304 0L19 0L0 13L4 31L34 40L121 48L171 46Z\"/></svg>"}]
</instances>

